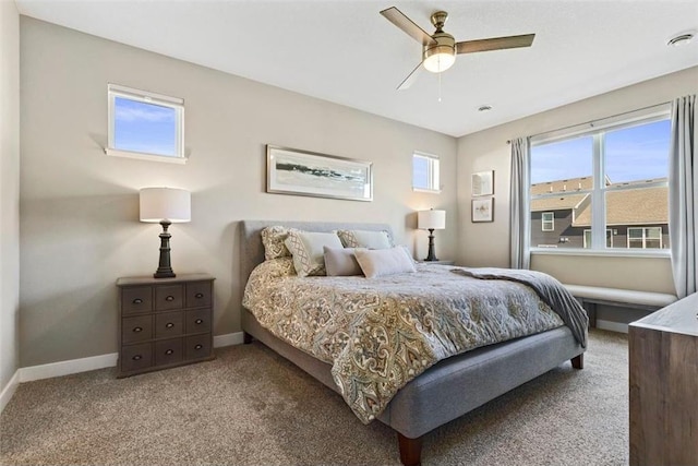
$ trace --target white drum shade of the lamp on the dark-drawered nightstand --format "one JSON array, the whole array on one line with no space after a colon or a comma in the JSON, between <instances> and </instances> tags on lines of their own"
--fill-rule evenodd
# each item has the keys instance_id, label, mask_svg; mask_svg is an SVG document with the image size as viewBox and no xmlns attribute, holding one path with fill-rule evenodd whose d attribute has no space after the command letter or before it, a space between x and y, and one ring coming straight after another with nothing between
<instances>
[{"instance_id":1,"label":"white drum shade of the lamp on the dark-drawered nightstand","mask_svg":"<svg viewBox=\"0 0 698 466\"><path fill-rule=\"evenodd\" d=\"M183 189L143 188L140 194L141 222L173 224L192 219L192 196Z\"/></svg>"}]
</instances>

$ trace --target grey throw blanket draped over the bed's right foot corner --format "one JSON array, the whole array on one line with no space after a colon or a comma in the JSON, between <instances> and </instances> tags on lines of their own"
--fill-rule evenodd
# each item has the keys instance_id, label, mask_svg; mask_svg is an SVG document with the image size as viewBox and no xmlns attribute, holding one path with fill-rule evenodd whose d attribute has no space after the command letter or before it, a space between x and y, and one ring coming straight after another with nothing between
<instances>
[{"instance_id":1,"label":"grey throw blanket draped over the bed's right foot corner","mask_svg":"<svg viewBox=\"0 0 698 466\"><path fill-rule=\"evenodd\" d=\"M587 347L587 311L571 296L567 288L552 276L542 272L520 268L453 268L452 272L480 279L508 279L531 287L541 299L559 315L571 330L575 339Z\"/></svg>"}]
</instances>

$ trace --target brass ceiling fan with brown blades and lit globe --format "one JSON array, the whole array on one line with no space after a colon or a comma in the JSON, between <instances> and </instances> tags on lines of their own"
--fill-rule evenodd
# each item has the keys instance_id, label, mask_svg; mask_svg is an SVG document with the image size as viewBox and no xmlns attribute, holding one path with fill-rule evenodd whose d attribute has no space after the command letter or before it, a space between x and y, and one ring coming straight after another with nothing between
<instances>
[{"instance_id":1,"label":"brass ceiling fan with brown blades and lit globe","mask_svg":"<svg viewBox=\"0 0 698 466\"><path fill-rule=\"evenodd\" d=\"M456 61L456 53L474 53L478 51L501 50L507 48L530 47L535 34L520 36L491 37L489 39L465 40L456 43L454 36L444 32L444 24L448 13L437 11L432 14L432 24L436 27L433 35L429 35L418 26L405 13L395 7L381 12L386 20L402 29L408 36L422 44L422 61L397 86L398 91L408 88L418 75L418 71L424 65L432 73L441 73L448 70Z\"/></svg>"}]
</instances>

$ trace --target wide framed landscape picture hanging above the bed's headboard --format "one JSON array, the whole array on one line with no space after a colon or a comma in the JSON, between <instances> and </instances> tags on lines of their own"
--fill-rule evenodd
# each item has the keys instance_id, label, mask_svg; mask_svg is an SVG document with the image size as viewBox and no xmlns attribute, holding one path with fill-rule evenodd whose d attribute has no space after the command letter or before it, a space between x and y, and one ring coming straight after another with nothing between
<instances>
[{"instance_id":1,"label":"wide framed landscape picture hanging above the bed's headboard","mask_svg":"<svg viewBox=\"0 0 698 466\"><path fill-rule=\"evenodd\" d=\"M266 192L373 201L373 164L267 144Z\"/></svg>"}]
</instances>

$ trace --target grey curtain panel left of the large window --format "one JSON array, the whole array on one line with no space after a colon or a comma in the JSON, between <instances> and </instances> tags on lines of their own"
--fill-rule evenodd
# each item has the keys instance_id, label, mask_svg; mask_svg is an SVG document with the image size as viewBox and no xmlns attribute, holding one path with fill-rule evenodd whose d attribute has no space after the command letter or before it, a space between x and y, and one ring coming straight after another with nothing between
<instances>
[{"instance_id":1,"label":"grey curtain panel left of the large window","mask_svg":"<svg viewBox=\"0 0 698 466\"><path fill-rule=\"evenodd\" d=\"M529 139L512 141L512 184L509 226L512 229L512 268L531 267L531 214L529 202L530 160Z\"/></svg>"}]
</instances>

